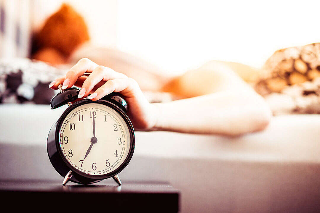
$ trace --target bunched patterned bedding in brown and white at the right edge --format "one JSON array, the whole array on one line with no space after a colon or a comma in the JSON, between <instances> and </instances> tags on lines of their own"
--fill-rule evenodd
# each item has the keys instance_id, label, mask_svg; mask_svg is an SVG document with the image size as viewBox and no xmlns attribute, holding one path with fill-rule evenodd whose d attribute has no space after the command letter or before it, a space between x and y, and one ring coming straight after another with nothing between
<instances>
[{"instance_id":1,"label":"bunched patterned bedding in brown and white at the right edge","mask_svg":"<svg viewBox=\"0 0 320 213\"><path fill-rule=\"evenodd\" d=\"M277 50L255 89L273 114L320 114L320 43Z\"/></svg>"}]
</instances>

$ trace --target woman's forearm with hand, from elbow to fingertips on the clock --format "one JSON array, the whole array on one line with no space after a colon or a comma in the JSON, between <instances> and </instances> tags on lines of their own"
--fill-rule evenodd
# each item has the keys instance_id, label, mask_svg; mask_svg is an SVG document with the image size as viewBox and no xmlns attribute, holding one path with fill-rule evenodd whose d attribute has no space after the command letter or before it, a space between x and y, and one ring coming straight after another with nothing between
<instances>
[{"instance_id":1,"label":"woman's forearm with hand, from elbow to fingertips on the clock","mask_svg":"<svg viewBox=\"0 0 320 213\"><path fill-rule=\"evenodd\" d=\"M91 74L83 76L85 72ZM76 85L81 87L79 98L93 101L118 92L128 103L128 116L135 130L140 131L239 135L263 129L270 118L266 103L248 85L229 74L228 84L221 84L220 91L213 94L151 104L135 80L83 58L66 76L54 80L49 87L58 89L63 84L62 88L66 89ZM220 83L226 80L220 77ZM235 80L231 80L233 78Z\"/></svg>"}]
</instances>

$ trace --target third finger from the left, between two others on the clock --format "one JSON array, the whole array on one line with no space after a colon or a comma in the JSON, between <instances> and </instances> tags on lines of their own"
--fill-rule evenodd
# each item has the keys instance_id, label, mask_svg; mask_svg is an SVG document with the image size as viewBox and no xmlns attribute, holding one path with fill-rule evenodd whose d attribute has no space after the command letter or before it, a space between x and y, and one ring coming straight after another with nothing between
<instances>
[{"instance_id":1,"label":"third finger from the left, between two others on the clock","mask_svg":"<svg viewBox=\"0 0 320 213\"><path fill-rule=\"evenodd\" d=\"M100 81L108 81L110 79L126 79L128 78L126 75L116 72L105 66L97 66L92 73L88 76L86 80L84 80L82 88L79 92L78 97L83 98L87 97L92 89L100 82Z\"/></svg>"}]
</instances>

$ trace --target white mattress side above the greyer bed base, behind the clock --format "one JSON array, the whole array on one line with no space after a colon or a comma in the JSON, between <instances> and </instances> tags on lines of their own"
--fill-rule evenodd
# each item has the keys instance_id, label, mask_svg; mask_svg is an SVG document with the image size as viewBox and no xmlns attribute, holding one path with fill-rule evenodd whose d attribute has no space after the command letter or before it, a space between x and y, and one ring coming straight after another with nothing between
<instances>
[{"instance_id":1,"label":"white mattress side above the greyer bed base, behind the clock","mask_svg":"<svg viewBox=\"0 0 320 213\"><path fill-rule=\"evenodd\" d=\"M50 127L66 106L0 105L0 142L46 145ZM241 161L320 162L320 115L272 118L268 128L241 137L136 132L135 155Z\"/></svg>"}]
</instances>

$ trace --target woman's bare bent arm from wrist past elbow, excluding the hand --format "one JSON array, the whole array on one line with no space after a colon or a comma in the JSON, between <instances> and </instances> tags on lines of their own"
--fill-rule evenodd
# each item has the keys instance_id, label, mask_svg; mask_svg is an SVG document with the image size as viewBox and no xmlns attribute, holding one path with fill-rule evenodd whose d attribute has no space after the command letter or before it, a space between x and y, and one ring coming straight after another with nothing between
<instances>
[{"instance_id":1,"label":"woman's bare bent arm from wrist past elbow, excluding the hand","mask_svg":"<svg viewBox=\"0 0 320 213\"><path fill-rule=\"evenodd\" d=\"M154 129L223 135L264 129L271 118L269 106L236 74L257 71L232 65L211 61L172 80L164 91L189 98L154 104L159 114Z\"/></svg>"}]
</instances>

